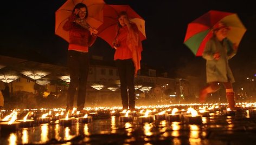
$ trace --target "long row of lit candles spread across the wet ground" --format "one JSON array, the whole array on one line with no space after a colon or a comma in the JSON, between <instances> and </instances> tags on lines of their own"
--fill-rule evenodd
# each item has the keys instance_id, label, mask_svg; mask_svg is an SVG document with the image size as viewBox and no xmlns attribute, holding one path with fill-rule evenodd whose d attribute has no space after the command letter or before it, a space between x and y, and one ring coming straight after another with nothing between
<instances>
[{"instance_id":1,"label":"long row of lit candles spread across the wet ground","mask_svg":"<svg viewBox=\"0 0 256 145\"><path fill-rule=\"evenodd\" d=\"M221 105L220 105L221 106ZM189 124L202 124L202 117L209 117L210 113L214 113L215 111L220 111L221 107L213 104L210 107L207 106L197 106L196 109L189 107L187 110L185 109L167 109L167 108L154 108L151 109L140 109L140 111L131 111L131 110L123 110L117 111L111 109L103 109L105 113L110 112L110 116L119 116L120 122L132 122L138 121L139 123L145 122L153 122L153 121L161 121L167 120L170 122L184 122ZM255 107L248 105L241 105L243 108L248 108L248 113L250 115L256 115ZM195 107L196 108L196 107ZM115 108L117 109L117 108ZM48 110L48 109L46 109ZM160 111L159 111L160 110ZM38 110L37 110L38 111ZM5 116L2 120L0 120L0 128L1 130L15 130L19 127L31 127L35 124L41 123L50 123L51 121L57 121L61 126L72 126L75 122L79 123L89 123L93 121L93 116L97 115L97 111L102 111L101 109L94 109L94 113L88 114L80 114L79 111L73 109L72 113L67 113L64 115L63 111L59 113L60 110L54 110L55 114L53 115L52 110L48 113L43 114L41 117L35 117L36 111L29 110L27 115L23 118L23 120L17 120L17 111L13 110L10 115ZM234 110L231 109L223 109L223 115L235 115ZM108 112L109 113L109 112ZM70 116L69 116L70 115ZM30 119L27 119L30 116ZM56 122L55 122L56 123Z\"/></svg>"}]
</instances>

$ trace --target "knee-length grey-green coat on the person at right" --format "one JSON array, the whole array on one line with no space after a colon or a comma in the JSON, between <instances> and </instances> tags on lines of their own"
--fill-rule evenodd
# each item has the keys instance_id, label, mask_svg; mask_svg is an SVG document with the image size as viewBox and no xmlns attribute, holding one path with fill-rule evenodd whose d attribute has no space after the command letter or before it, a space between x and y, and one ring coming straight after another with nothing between
<instances>
[{"instance_id":1,"label":"knee-length grey-green coat on the person at right","mask_svg":"<svg viewBox=\"0 0 256 145\"><path fill-rule=\"evenodd\" d=\"M220 59L214 60L215 52L220 53ZM234 76L228 65L236 52L233 50L233 43L229 39L223 39L223 45L216 37L212 37L206 43L203 51L203 58L206 59L206 77L207 83L210 82L235 82Z\"/></svg>"}]
</instances>

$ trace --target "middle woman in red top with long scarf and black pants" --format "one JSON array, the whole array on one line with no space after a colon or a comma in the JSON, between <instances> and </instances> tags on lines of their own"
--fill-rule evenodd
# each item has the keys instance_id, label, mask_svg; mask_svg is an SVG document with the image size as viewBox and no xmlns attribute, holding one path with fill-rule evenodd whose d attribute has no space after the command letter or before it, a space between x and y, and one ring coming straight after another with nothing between
<instances>
[{"instance_id":1,"label":"middle woman in red top with long scarf and black pants","mask_svg":"<svg viewBox=\"0 0 256 145\"><path fill-rule=\"evenodd\" d=\"M134 77L140 69L142 43L139 39L139 30L135 23L131 23L126 12L120 12L118 18L116 39L113 42L116 52L114 61L120 78L121 100L123 109L135 109ZM129 90L129 97L127 94Z\"/></svg>"}]
</instances>

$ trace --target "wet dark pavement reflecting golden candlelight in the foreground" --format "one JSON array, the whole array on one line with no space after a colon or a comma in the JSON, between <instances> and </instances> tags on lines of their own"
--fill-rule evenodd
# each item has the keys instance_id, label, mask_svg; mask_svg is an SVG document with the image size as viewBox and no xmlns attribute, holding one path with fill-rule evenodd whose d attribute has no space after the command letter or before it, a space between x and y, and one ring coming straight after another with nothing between
<instances>
[{"instance_id":1,"label":"wet dark pavement reflecting golden candlelight in the foreground","mask_svg":"<svg viewBox=\"0 0 256 145\"><path fill-rule=\"evenodd\" d=\"M138 108L130 113L133 121L120 121L119 111L111 109L92 109L90 123L79 123L77 115L73 125L61 125L59 120L50 123L34 122L32 127L18 127L10 130L1 127L0 144L254 144L256 142L256 111L255 107L245 107L227 112L225 105L210 110L203 115L200 122L188 122L186 111L190 106L164 106ZM192 108L199 110L199 105ZM204 106L205 107L205 106ZM206 109L212 106L207 106ZM155 115L165 110L165 116L178 108L181 120L171 122L167 118L142 122L139 111L152 110ZM185 109L185 110L182 110ZM49 110L49 109L48 109ZM44 110L43 113L48 110ZM112 113L111 113L112 111ZM39 111L37 111L39 112ZM97 112L97 113L95 113ZM4 117L11 111L2 113ZM25 113L23 113L25 114ZM40 113L42 114L42 113ZM199 113L200 114L200 113ZM21 113L20 113L20 116ZM1 117L1 119L3 118ZM30 119L38 120L35 113ZM158 118L159 119L159 118Z\"/></svg>"}]
</instances>

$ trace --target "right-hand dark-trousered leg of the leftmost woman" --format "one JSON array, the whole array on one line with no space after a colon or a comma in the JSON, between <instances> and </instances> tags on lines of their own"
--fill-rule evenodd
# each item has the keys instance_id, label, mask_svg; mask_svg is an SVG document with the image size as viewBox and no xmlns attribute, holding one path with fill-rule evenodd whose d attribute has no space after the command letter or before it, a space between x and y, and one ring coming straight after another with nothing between
<instances>
[{"instance_id":1,"label":"right-hand dark-trousered leg of the leftmost woman","mask_svg":"<svg viewBox=\"0 0 256 145\"><path fill-rule=\"evenodd\" d=\"M86 84L89 71L89 55L88 53L80 54L79 62L79 85L78 85L78 100L77 107L78 111L81 111L85 107L86 98Z\"/></svg>"}]
</instances>

